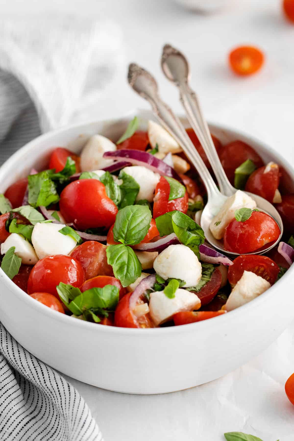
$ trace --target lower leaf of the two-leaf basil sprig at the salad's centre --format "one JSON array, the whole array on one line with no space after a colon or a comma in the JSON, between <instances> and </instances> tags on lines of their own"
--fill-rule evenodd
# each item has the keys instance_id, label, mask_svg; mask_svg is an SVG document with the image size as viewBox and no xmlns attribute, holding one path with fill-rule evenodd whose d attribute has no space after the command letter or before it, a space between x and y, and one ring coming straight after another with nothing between
<instances>
[{"instance_id":1,"label":"lower leaf of the two-leaf basil sprig at the salad's centre","mask_svg":"<svg viewBox=\"0 0 294 441\"><path fill-rule=\"evenodd\" d=\"M106 249L107 263L112 266L114 275L125 288L141 276L142 267L134 250L122 243L110 245Z\"/></svg>"}]
</instances>

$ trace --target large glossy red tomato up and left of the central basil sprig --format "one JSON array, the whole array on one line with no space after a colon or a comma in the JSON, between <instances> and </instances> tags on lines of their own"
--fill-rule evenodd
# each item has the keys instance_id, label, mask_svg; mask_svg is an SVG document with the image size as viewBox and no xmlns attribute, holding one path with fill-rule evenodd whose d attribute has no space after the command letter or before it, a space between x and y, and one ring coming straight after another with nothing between
<instances>
[{"instance_id":1,"label":"large glossy red tomato up and left of the central basil sprig","mask_svg":"<svg viewBox=\"0 0 294 441\"><path fill-rule=\"evenodd\" d=\"M60 212L78 228L110 227L118 212L97 179L81 179L68 184L60 194Z\"/></svg>"}]
</instances>

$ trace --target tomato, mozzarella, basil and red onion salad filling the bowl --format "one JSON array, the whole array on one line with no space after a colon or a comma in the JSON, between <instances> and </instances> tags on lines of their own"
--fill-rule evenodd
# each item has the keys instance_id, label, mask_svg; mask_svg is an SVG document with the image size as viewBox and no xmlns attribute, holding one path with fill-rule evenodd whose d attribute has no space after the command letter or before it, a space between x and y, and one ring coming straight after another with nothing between
<instances>
[{"instance_id":1,"label":"tomato, mozzarella, basil and red onion salad filling the bowl","mask_svg":"<svg viewBox=\"0 0 294 441\"><path fill-rule=\"evenodd\" d=\"M234 261L205 243L197 170L164 128L149 121L140 131L135 117L116 143L94 135L80 156L52 149L47 169L0 195L1 269L60 313L129 328L205 320L261 295L294 260L294 194L278 164L264 164L242 141L212 138L238 191L210 229L240 254ZM287 242L266 256L248 253L276 240L279 227L243 190L275 204L283 219Z\"/></svg>"}]
</instances>

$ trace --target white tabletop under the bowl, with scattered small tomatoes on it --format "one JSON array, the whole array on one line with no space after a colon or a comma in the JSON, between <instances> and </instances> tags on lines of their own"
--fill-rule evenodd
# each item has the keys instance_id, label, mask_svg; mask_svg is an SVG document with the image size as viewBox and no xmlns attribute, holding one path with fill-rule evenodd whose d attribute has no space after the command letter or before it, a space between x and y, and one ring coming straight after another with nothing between
<instances>
[{"instance_id":1,"label":"white tabletop under the bowl, with scattered small tomatoes on it","mask_svg":"<svg viewBox=\"0 0 294 441\"><path fill-rule=\"evenodd\" d=\"M97 118L147 107L127 86L130 61L152 71L161 95L181 111L177 91L159 66L161 47L170 42L189 57L192 84L209 120L256 135L294 161L294 26L283 19L280 3L235 0L212 16L193 14L171 0L0 0L0 10L2 17L44 11L107 15L121 25L125 62L101 97ZM231 74L227 53L239 44L264 50L267 63L260 74L251 78ZM292 441L294 407L283 389L294 371L293 341L294 328L222 379L167 395L123 395L70 381L89 404L105 441L217 441L227 431L244 431L264 441Z\"/></svg>"}]
</instances>

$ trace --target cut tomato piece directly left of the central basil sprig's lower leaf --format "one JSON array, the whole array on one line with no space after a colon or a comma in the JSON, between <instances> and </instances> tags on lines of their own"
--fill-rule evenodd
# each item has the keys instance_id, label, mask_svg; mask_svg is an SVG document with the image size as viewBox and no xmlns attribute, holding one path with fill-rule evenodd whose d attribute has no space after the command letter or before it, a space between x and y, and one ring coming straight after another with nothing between
<instances>
[{"instance_id":1,"label":"cut tomato piece directly left of the central basil sprig's lower leaf","mask_svg":"<svg viewBox=\"0 0 294 441\"><path fill-rule=\"evenodd\" d=\"M71 252L71 257L80 262L85 280L96 276L113 276L112 266L107 263L106 245L87 240Z\"/></svg>"}]
</instances>

